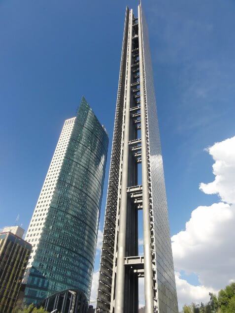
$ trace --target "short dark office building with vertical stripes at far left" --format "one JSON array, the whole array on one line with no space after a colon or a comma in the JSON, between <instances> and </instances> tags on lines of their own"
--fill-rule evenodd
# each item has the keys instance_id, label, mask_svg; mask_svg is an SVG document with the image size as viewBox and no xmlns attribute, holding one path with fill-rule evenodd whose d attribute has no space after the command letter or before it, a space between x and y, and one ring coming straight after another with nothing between
<instances>
[{"instance_id":1,"label":"short dark office building with vertical stripes at far left","mask_svg":"<svg viewBox=\"0 0 235 313\"><path fill-rule=\"evenodd\" d=\"M24 229L19 226L6 227L0 233L0 312L2 313L11 313L15 306L32 249L31 244L22 239L23 234Z\"/></svg>"}]
</instances>

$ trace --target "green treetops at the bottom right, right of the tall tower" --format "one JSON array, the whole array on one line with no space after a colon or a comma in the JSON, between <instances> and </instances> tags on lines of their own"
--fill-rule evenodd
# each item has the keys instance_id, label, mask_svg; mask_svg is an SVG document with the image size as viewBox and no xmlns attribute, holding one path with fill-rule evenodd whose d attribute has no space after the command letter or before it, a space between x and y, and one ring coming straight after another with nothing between
<instances>
[{"instance_id":1,"label":"green treetops at the bottom right, right of the tall tower","mask_svg":"<svg viewBox=\"0 0 235 313\"><path fill-rule=\"evenodd\" d=\"M210 301L201 305L184 305L182 313L235 313L235 282L221 289L218 297L209 293Z\"/></svg>"}]
</instances>

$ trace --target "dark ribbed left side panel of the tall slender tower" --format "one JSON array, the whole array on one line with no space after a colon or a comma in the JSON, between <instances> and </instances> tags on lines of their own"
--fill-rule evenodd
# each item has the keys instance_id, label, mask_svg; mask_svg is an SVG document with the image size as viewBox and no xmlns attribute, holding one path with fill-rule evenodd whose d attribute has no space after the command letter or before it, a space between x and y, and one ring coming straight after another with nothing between
<instances>
[{"instance_id":1,"label":"dark ribbed left side panel of the tall slender tower","mask_svg":"<svg viewBox=\"0 0 235 313\"><path fill-rule=\"evenodd\" d=\"M121 56L121 66L119 74L117 104L115 112L115 122L113 130L113 142L111 152L111 162L109 169L108 192L105 209L105 219L103 226L103 243L101 249L101 267L97 295L97 312L110 312L111 293L114 284L113 269L115 266L115 234L117 232L118 217L118 194L120 181L120 164L122 154L122 133L124 116L124 98L126 81L126 63L127 63L127 43L128 43L128 24L129 9L126 9L126 18L123 35L123 46Z\"/></svg>"}]
</instances>

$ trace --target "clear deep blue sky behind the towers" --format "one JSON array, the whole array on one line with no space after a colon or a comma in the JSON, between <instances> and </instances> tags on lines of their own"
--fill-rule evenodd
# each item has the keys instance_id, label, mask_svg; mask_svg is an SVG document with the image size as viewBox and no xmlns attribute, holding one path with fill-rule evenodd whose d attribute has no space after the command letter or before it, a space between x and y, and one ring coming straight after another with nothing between
<instances>
[{"instance_id":1,"label":"clear deep blue sky behind the towers","mask_svg":"<svg viewBox=\"0 0 235 313\"><path fill-rule=\"evenodd\" d=\"M63 122L82 95L111 141L125 7L136 14L137 2L0 1L0 228L19 214L27 229ZM199 184L214 177L203 149L235 135L235 2L142 3L174 235L197 206L218 201Z\"/></svg>"}]
</instances>

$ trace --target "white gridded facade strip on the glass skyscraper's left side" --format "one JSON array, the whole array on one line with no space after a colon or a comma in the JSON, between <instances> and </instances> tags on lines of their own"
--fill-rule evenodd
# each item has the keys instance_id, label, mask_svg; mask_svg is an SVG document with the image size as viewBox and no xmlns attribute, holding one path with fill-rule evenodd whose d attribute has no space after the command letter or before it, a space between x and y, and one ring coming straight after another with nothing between
<instances>
[{"instance_id":1,"label":"white gridded facade strip on the glass skyscraper's left side","mask_svg":"<svg viewBox=\"0 0 235 313\"><path fill-rule=\"evenodd\" d=\"M74 117L65 121L59 141L56 146L56 150L51 160L51 164L46 174L45 181L42 185L41 192L34 209L34 214L26 233L25 240L31 243L31 245L33 246L30 260L27 265L28 271L26 273L29 273L29 269L31 268L32 262L34 261L37 245L39 243L42 228L44 226L48 209L50 207L52 195L55 190L61 166L66 154L75 119L76 118ZM26 275L25 280L27 278L28 275Z\"/></svg>"}]
</instances>

